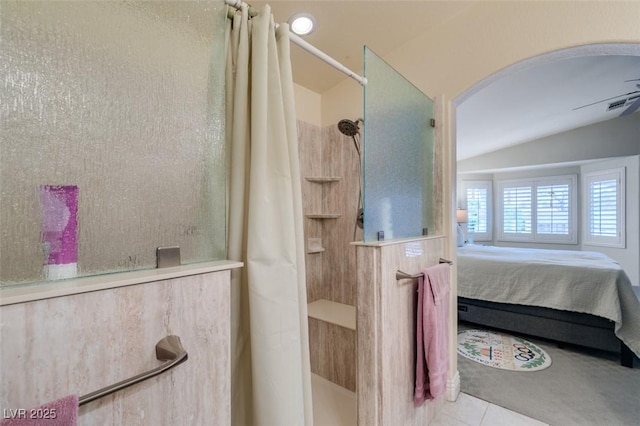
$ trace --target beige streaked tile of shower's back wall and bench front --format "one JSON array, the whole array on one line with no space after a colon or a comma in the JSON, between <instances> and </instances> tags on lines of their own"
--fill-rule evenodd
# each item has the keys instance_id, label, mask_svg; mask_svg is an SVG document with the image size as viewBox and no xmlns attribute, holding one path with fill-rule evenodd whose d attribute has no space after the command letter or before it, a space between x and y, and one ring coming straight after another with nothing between
<instances>
[{"instance_id":1,"label":"beige streaked tile of shower's back wall and bench front","mask_svg":"<svg viewBox=\"0 0 640 426\"><path fill-rule=\"evenodd\" d=\"M298 142L305 214L339 214L337 219L304 219L305 242L319 238L324 251L306 252L307 298L356 304L356 250L362 239L354 227L358 209L359 159L353 139L336 126L320 128L298 121ZM307 177L339 177L310 182ZM309 318L311 371L346 389L356 390L356 332Z\"/></svg>"}]
</instances>

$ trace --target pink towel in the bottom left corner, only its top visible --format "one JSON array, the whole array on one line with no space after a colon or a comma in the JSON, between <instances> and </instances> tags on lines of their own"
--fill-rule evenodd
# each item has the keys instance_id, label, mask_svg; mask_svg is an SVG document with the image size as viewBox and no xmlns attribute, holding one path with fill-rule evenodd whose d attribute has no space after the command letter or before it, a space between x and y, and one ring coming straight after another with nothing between
<instances>
[{"instance_id":1,"label":"pink towel in the bottom left corner, only its top visible","mask_svg":"<svg viewBox=\"0 0 640 426\"><path fill-rule=\"evenodd\" d=\"M76 426L78 395L69 395L38 408L5 408L2 426Z\"/></svg>"}]
</instances>

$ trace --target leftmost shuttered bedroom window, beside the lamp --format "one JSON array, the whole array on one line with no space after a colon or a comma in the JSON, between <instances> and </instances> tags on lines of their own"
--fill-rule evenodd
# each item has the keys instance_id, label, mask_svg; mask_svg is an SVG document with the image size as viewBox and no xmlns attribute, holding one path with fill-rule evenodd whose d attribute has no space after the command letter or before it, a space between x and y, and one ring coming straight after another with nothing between
<instances>
[{"instance_id":1,"label":"leftmost shuttered bedroom window, beside the lamp","mask_svg":"<svg viewBox=\"0 0 640 426\"><path fill-rule=\"evenodd\" d=\"M463 202L467 208L469 222L467 233L476 241L490 241L491 229L491 186L490 180L463 181Z\"/></svg>"}]
</instances>

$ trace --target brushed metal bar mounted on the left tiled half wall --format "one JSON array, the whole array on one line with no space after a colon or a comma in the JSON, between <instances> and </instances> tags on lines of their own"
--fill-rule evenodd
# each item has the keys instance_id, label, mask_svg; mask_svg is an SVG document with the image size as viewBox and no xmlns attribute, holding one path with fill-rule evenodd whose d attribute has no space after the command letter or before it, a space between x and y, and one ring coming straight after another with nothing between
<instances>
[{"instance_id":1,"label":"brushed metal bar mounted on the left tiled half wall","mask_svg":"<svg viewBox=\"0 0 640 426\"><path fill-rule=\"evenodd\" d=\"M185 362L188 356L187 351L180 343L180 337L167 336L156 344L156 359L159 361L166 361L164 364L154 368L153 370L149 370L129 379L122 380L121 382L115 383L111 386L107 386L95 392L81 396L79 399L79 405L87 404L91 401L102 398L103 396L110 395L124 388L128 388L131 385L150 379L158 374L162 374L176 365Z\"/></svg>"}]
</instances>

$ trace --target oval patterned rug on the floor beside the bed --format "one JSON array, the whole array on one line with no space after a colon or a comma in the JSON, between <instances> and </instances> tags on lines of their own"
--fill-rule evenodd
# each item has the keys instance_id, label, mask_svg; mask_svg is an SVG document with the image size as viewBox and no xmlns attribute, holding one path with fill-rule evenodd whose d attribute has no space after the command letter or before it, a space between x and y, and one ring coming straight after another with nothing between
<instances>
[{"instance_id":1,"label":"oval patterned rug on the floor beside the bed","mask_svg":"<svg viewBox=\"0 0 640 426\"><path fill-rule=\"evenodd\" d=\"M551 357L533 343L484 330L458 333L458 354L489 367L513 371L538 371L551 365Z\"/></svg>"}]
</instances>

